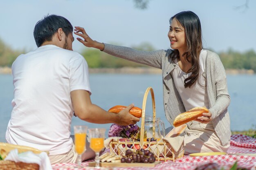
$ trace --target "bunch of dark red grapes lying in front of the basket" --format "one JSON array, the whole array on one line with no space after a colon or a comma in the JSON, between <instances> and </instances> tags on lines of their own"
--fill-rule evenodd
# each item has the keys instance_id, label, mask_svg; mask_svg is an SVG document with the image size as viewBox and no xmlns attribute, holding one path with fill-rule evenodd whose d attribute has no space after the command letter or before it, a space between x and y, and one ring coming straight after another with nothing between
<instances>
[{"instance_id":1,"label":"bunch of dark red grapes lying in front of the basket","mask_svg":"<svg viewBox=\"0 0 256 170\"><path fill-rule=\"evenodd\" d=\"M125 157L121 159L121 163L132 163L132 162L141 162L141 163L153 163L155 162L155 155L149 150L126 150Z\"/></svg>"}]
</instances>

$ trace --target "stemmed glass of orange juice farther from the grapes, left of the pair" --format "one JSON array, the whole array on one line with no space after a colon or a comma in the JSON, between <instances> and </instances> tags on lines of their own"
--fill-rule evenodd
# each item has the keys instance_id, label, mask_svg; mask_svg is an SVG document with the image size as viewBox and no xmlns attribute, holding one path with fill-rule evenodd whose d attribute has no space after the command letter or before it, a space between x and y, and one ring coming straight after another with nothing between
<instances>
[{"instance_id":1,"label":"stemmed glass of orange juice farther from the grapes, left of the pair","mask_svg":"<svg viewBox=\"0 0 256 170\"><path fill-rule=\"evenodd\" d=\"M74 126L75 134L75 150L78 155L77 164L78 168L81 168L82 154L86 150L86 132L87 126Z\"/></svg>"}]
</instances>

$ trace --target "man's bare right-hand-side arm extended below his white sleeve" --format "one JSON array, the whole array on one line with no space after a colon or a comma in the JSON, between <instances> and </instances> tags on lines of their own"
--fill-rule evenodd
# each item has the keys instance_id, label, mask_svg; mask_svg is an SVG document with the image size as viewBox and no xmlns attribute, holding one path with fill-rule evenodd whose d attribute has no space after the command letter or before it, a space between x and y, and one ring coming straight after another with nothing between
<instances>
[{"instance_id":1,"label":"man's bare right-hand-side arm extended below his white sleeve","mask_svg":"<svg viewBox=\"0 0 256 170\"><path fill-rule=\"evenodd\" d=\"M133 107L132 104L116 114L107 112L92 104L88 91L74 90L70 95L75 114L84 121L96 124L115 123L119 125L136 124L139 121L139 118L129 113L129 110Z\"/></svg>"}]
</instances>

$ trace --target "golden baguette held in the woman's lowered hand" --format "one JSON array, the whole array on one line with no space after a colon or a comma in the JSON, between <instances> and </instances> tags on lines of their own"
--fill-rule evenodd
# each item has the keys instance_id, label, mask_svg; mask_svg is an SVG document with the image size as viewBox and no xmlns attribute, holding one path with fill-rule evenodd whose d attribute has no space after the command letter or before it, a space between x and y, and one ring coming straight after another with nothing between
<instances>
[{"instance_id":1,"label":"golden baguette held in the woman's lowered hand","mask_svg":"<svg viewBox=\"0 0 256 170\"><path fill-rule=\"evenodd\" d=\"M177 115L173 121L173 126L177 127L182 124L185 124L189 121L192 121L200 116L202 116L203 113L209 113L209 110L204 107L196 107L192 108L191 110L181 113L180 115Z\"/></svg>"}]
</instances>

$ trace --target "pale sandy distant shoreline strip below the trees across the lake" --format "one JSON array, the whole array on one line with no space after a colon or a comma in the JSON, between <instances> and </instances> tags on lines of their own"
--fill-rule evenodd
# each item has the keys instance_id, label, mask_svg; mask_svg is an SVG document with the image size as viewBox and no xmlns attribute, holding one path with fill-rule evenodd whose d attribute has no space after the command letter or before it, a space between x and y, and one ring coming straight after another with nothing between
<instances>
[{"instance_id":1,"label":"pale sandy distant shoreline strip below the trees across the lake","mask_svg":"<svg viewBox=\"0 0 256 170\"><path fill-rule=\"evenodd\" d=\"M112 74L161 74L162 70L153 67L123 67L123 68L89 68L89 73L112 73ZM11 68L0 67L0 74L11 74ZM227 75L249 74L253 75L253 70L246 69L227 69Z\"/></svg>"}]
</instances>

